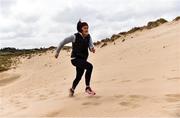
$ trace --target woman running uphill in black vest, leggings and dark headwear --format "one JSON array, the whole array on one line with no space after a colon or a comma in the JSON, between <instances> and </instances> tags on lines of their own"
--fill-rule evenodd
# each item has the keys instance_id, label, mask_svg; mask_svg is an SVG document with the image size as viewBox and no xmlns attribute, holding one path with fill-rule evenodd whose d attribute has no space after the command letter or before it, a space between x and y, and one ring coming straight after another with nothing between
<instances>
[{"instance_id":1,"label":"woman running uphill in black vest, leggings and dark headwear","mask_svg":"<svg viewBox=\"0 0 180 118\"><path fill-rule=\"evenodd\" d=\"M72 87L69 89L70 97L74 95L75 88L81 80L84 70L86 70L85 92L89 95L96 94L90 87L93 65L87 61L89 55L88 49L91 52L95 53L95 48L91 36L89 34L88 28L89 26L86 22L81 22L79 20L79 22L77 23L78 32L62 40L56 49L55 58L58 58L59 52L62 49L62 47L65 44L72 42L71 63L73 66L76 67L76 77L72 83Z\"/></svg>"}]
</instances>

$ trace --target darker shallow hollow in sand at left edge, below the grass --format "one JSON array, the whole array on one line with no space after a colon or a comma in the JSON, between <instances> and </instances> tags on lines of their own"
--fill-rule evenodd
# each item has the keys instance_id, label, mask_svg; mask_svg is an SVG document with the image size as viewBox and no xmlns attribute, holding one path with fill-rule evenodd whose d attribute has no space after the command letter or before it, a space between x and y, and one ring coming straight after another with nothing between
<instances>
[{"instance_id":1,"label":"darker shallow hollow in sand at left edge, below the grass","mask_svg":"<svg viewBox=\"0 0 180 118\"><path fill-rule=\"evenodd\" d=\"M19 74L7 74L7 73L0 74L0 87L14 82L19 77L20 77Z\"/></svg>"}]
</instances>

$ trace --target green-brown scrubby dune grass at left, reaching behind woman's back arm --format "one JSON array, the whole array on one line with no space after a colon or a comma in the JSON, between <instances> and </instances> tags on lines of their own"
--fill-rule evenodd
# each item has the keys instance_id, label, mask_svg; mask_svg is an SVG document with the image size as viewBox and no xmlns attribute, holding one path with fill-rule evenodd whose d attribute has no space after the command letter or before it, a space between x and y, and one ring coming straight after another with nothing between
<instances>
[{"instance_id":1,"label":"green-brown scrubby dune grass at left, reaching behind woman's back arm","mask_svg":"<svg viewBox=\"0 0 180 118\"><path fill-rule=\"evenodd\" d=\"M16 49L11 47L6 47L0 49L0 72L7 71L13 66L15 67L20 63L20 58L30 59L35 55L41 56L42 53L47 51L54 51L56 47L51 46L49 48L34 48L34 49ZM69 52L70 46L64 46L63 50Z\"/></svg>"}]
</instances>

